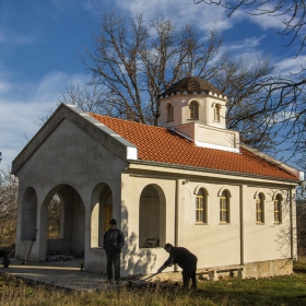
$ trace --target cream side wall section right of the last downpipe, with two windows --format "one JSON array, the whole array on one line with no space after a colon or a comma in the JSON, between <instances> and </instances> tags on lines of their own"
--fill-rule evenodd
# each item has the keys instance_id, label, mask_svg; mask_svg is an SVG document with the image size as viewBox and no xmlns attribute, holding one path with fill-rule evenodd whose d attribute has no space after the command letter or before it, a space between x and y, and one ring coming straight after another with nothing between
<instances>
[{"instance_id":1,"label":"cream side wall section right of the last downpipe, with two windows","mask_svg":"<svg viewBox=\"0 0 306 306\"><path fill-rule=\"evenodd\" d=\"M295 244L291 246L291 200L289 189L283 188L258 188L247 187L244 203L244 261L264 261L274 259L291 258L296 251ZM256 223L256 201L255 195L262 192L264 195L264 221ZM280 193L282 200L281 223L274 223L274 202L273 197ZM292 201L293 209L295 203Z\"/></svg>"}]
</instances>

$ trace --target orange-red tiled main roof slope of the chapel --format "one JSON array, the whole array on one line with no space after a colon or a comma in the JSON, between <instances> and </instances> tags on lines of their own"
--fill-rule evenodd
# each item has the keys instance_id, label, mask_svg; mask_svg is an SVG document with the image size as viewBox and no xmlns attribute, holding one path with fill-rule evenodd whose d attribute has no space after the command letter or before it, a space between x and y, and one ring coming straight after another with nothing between
<instances>
[{"instance_id":1,"label":"orange-red tiled main roof slope of the chapel","mask_svg":"<svg viewBox=\"0 0 306 306\"><path fill-rule=\"evenodd\" d=\"M188 139L161 127L90 114L138 148L138 158L215 170L298 180L294 175L240 148L239 153L196 146Z\"/></svg>"}]
</instances>

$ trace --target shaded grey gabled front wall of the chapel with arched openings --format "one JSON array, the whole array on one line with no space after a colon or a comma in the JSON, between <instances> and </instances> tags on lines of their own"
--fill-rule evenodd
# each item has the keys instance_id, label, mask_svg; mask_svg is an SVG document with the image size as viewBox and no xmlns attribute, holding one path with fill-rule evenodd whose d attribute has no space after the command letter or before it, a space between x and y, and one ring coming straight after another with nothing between
<instances>
[{"instance_id":1,"label":"shaded grey gabled front wall of the chapel with arched openings","mask_svg":"<svg viewBox=\"0 0 306 306\"><path fill-rule=\"evenodd\" d=\"M118 146L118 150L122 150ZM16 256L26 257L31 242L21 239L23 195L33 187L37 195L37 228L42 227L42 205L57 186L69 185L80 195L84 204L85 269L101 272L105 266L105 251L91 248L92 193L94 188L106 183L114 195L113 215L121 222L120 173L126 163L64 119L44 143L32 154L19 170L20 197L17 209ZM78 237L74 237L78 240ZM30 260L45 260L46 249L42 248L46 233L37 232Z\"/></svg>"}]
</instances>

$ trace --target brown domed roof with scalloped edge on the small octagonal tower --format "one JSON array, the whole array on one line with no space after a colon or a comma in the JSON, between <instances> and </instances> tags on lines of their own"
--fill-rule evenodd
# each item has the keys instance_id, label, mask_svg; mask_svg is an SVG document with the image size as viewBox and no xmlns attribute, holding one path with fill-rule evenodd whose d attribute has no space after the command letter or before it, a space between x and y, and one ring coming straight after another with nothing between
<instances>
[{"instance_id":1,"label":"brown domed roof with scalloped edge on the small octagonal tower","mask_svg":"<svg viewBox=\"0 0 306 306\"><path fill-rule=\"evenodd\" d=\"M161 97L177 94L210 94L225 98L225 95L214 85L197 76L188 76L174 83L161 94Z\"/></svg>"}]
</instances>

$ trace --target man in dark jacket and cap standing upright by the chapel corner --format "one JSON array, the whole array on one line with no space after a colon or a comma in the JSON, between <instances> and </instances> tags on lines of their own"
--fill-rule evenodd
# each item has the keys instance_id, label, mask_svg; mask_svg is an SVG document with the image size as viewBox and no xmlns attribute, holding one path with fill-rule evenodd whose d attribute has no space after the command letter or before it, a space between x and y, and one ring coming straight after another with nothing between
<instances>
[{"instance_id":1,"label":"man in dark jacket and cap standing upright by the chapel corner","mask_svg":"<svg viewBox=\"0 0 306 306\"><path fill-rule=\"evenodd\" d=\"M106 251L107 259L107 281L113 279L113 264L115 270L115 282L120 280L120 252L125 245L123 233L117 228L117 221L111 219L109 221L109 229L104 234L103 247Z\"/></svg>"}]
</instances>

